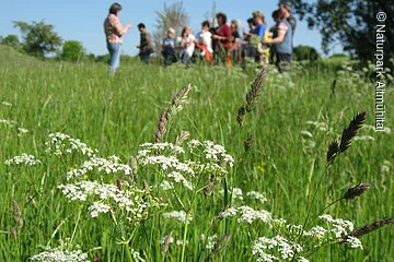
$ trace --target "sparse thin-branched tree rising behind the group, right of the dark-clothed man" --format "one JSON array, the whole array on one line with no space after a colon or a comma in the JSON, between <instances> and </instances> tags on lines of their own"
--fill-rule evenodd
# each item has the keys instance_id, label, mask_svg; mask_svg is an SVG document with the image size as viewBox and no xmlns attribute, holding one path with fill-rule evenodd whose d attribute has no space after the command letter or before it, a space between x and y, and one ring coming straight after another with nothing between
<instances>
[{"instance_id":1,"label":"sparse thin-branched tree rising behind the group, right of the dark-clothed man","mask_svg":"<svg viewBox=\"0 0 394 262\"><path fill-rule=\"evenodd\" d=\"M164 2L164 10L162 12L155 12L157 17L157 31L153 33L153 43L158 49L161 48L163 38L166 36L166 32L170 27L173 27L177 35L181 34L182 28L188 25L188 15L183 7L182 2L174 2L167 5Z\"/></svg>"}]
</instances>

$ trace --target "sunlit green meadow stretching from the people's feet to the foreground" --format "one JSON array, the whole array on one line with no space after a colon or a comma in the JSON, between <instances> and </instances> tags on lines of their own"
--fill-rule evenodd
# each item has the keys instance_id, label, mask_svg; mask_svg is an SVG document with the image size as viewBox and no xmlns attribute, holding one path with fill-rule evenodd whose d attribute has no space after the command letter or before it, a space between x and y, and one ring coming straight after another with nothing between
<instances>
[{"instance_id":1,"label":"sunlit green meadow stretching from the people's feet to the foreground","mask_svg":"<svg viewBox=\"0 0 394 262\"><path fill-rule=\"evenodd\" d=\"M384 80L386 130L378 132L373 64L294 62L289 75L267 68L241 126L239 109L260 71L252 66L165 68L130 60L109 78L105 63L40 61L3 46L0 57L0 261L39 260L32 258L49 247L62 254L80 250L83 261L269 261L266 254L279 261L394 261L393 219L383 221L394 214L393 82ZM177 93L188 85L187 94ZM166 147L141 146L154 143L169 108L161 138ZM350 147L327 163L328 146L362 110L366 122ZM119 168L97 164L68 179L92 156L67 139L63 152L48 150L57 132L96 150L94 157L117 156ZM198 152L189 150L195 140ZM176 159L193 172L141 156L141 148L151 148L149 159L159 162L175 155L173 145L185 150ZM225 154L211 156L208 147ZM39 163L13 158L23 153ZM181 180L169 175L175 169ZM59 187L82 181L132 192L127 198L137 207L108 201L99 186L83 200L67 198ZM370 187L343 198L360 183ZM93 203L107 209L92 217ZM234 213L224 215L230 209ZM169 215L174 211L183 219ZM318 218L323 214L354 228L335 237L335 223ZM326 233L304 236L317 225ZM359 236L362 249L340 242L366 225L371 230ZM276 238L263 253L256 240L276 236L289 247Z\"/></svg>"}]
</instances>

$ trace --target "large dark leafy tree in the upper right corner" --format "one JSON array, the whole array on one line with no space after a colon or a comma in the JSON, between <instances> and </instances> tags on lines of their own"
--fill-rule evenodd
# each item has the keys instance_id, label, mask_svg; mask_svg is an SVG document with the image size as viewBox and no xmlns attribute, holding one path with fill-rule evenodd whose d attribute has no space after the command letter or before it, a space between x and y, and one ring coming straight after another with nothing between
<instances>
[{"instance_id":1,"label":"large dark leafy tree in the upper right corner","mask_svg":"<svg viewBox=\"0 0 394 262\"><path fill-rule=\"evenodd\" d=\"M394 2L384 0L290 0L310 28L318 28L324 52L340 43L346 51L361 59L373 59L376 25L385 23L385 57L394 55ZM378 12L386 20L379 22ZM297 33L296 33L297 34Z\"/></svg>"}]
</instances>

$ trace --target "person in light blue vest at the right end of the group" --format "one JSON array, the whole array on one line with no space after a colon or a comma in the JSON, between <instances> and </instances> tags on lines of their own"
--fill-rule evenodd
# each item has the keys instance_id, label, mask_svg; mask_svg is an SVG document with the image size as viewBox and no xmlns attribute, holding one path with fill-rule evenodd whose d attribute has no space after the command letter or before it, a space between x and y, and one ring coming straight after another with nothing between
<instances>
[{"instance_id":1,"label":"person in light blue vest at the right end of the group","mask_svg":"<svg viewBox=\"0 0 394 262\"><path fill-rule=\"evenodd\" d=\"M278 36L263 40L263 44L275 45L277 67L279 72L289 72L292 56L292 28L288 21L290 13L287 9L279 9Z\"/></svg>"}]
</instances>

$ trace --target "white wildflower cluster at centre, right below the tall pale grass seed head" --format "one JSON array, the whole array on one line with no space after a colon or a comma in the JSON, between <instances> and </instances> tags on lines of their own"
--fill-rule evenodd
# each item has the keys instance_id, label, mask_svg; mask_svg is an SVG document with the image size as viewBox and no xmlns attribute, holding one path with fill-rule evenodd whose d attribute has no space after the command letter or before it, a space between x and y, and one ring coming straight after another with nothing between
<instances>
[{"instance_id":1,"label":"white wildflower cluster at centre, right below the tall pale grass seed head","mask_svg":"<svg viewBox=\"0 0 394 262\"><path fill-rule=\"evenodd\" d=\"M144 143L140 145L137 159L141 166L159 166L165 179L160 187L165 189L178 183L187 190L194 190L198 181L204 180L204 187L211 188L228 172L225 166L233 165L233 157L227 154L222 145L197 140L192 140L186 145L183 148L172 143ZM187 155L194 159L184 159ZM200 179L204 176L206 178Z\"/></svg>"}]
</instances>

